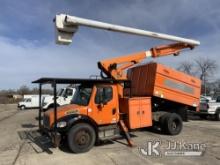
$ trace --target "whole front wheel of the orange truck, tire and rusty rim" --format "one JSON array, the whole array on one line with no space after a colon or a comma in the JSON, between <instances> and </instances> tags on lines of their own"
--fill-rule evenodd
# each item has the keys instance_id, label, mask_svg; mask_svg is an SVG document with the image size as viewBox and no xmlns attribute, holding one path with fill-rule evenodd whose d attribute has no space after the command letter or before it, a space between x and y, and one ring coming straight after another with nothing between
<instances>
[{"instance_id":1,"label":"whole front wheel of the orange truck, tire and rusty rim","mask_svg":"<svg viewBox=\"0 0 220 165\"><path fill-rule=\"evenodd\" d=\"M96 133L92 126L86 123L74 125L68 133L68 146L74 153L89 151L95 144Z\"/></svg>"}]
</instances>

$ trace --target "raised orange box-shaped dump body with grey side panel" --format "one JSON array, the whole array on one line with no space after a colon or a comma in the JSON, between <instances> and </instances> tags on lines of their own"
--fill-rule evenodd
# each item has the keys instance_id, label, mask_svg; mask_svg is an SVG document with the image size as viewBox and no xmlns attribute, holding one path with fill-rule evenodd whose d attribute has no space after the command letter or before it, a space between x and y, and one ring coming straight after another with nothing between
<instances>
[{"instance_id":1,"label":"raised orange box-shaped dump body with grey side panel","mask_svg":"<svg viewBox=\"0 0 220 165\"><path fill-rule=\"evenodd\" d=\"M128 70L131 96L154 96L192 107L199 105L201 81L158 63Z\"/></svg>"}]
</instances>

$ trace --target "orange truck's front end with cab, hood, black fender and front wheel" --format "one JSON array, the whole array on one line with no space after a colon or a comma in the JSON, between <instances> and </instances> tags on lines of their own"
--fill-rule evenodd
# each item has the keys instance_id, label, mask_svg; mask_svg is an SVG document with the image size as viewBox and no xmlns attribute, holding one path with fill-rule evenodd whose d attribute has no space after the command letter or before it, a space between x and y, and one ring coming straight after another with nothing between
<instances>
[{"instance_id":1,"label":"orange truck's front end with cab, hood, black fender and front wheel","mask_svg":"<svg viewBox=\"0 0 220 165\"><path fill-rule=\"evenodd\" d=\"M107 81L106 81L107 82ZM51 132L56 124L58 134L66 137L73 152L86 152L97 139L119 135L118 84L81 84L77 87L71 104L44 112L43 127Z\"/></svg>"}]
</instances>

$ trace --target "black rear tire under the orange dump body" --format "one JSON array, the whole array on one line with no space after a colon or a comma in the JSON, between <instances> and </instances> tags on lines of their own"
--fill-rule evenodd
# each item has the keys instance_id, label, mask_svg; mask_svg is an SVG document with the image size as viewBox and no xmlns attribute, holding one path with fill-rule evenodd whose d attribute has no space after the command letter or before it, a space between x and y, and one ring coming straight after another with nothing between
<instances>
[{"instance_id":1,"label":"black rear tire under the orange dump body","mask_svg":"<svg viewBox=\"0 0 220 165\"><path fill-rule=\"evenodd\" d=\"M169 113L164 119L164 132L169 135L178 135L183 128L181 117L176 113Z\"/></svg>"}]
</instances>

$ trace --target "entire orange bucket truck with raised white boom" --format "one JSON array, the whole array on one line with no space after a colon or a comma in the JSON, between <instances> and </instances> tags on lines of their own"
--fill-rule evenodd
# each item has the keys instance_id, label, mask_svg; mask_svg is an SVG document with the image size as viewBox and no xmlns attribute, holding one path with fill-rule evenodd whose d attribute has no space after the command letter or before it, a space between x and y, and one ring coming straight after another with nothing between
<instances>
[{"instance_id":1,"label":"entire orange bucket truck with raised white boom","mask_svg":"<svg viewBox=\"0 0 220 165\"><path fill-rule=\"evenodd\" d=\"M200 80L161 64L137 66L146 58L176 56L184 49L199 45L198 41L68 15L57 15L55 25L57 43L62 44L72 41L78 26L178 42L99 61L102 79L40 78L34 81L39 83L40 94L43 84L52 84L54 98L58 84L78 84L70 105L55 106L43 116L41 108L39 110L40 130L49 134L54 144L59 145L63 137L72 152L82 153L89 151L95 142L123 133L128 145L133 146L129 131L159 125L164 133L177 135L182 130L186 110L198 110Z\"/></svg>"}]
</instances>

